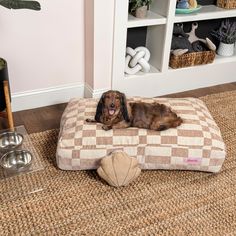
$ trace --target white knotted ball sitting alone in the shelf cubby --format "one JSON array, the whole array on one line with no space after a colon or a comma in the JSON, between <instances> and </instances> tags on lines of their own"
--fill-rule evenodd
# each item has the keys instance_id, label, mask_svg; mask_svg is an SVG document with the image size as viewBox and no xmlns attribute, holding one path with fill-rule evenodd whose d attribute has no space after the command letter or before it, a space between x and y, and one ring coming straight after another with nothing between
<instances>
[{"instance_id":1,"label":"white knotted ball sitting alone in the shelf cubby","mask_svg":"<svg viewBox=\"0 0 236 236\"><path fill-rule=\"evenodd\" d=\"M149 59L150 52L146 47L137 47L135 49L127 47L125 57L125 73L133 75L139 71L145 73L149 72Z\"/></svg>"}]
</instances>

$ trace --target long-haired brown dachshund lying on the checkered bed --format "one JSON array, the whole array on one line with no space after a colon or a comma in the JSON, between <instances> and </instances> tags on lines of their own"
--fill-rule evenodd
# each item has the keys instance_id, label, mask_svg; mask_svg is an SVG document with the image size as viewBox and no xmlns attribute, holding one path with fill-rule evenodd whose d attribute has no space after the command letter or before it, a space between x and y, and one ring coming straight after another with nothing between
<instances>
[{"instance_id":1,"label":"long-haired brown dachshund lying on the checkered bed","mask_svg":"<svg viewBox=\"0 0 236 236\"><path fill-rule=\"evenodd\" d=\"M97 106L95 120L86 121L102 123L104 130L138 127L161 131L182 123L182 119L164 104L127 103L125 95L114 90L103 93Z\"/></svg>"}]
</instances>

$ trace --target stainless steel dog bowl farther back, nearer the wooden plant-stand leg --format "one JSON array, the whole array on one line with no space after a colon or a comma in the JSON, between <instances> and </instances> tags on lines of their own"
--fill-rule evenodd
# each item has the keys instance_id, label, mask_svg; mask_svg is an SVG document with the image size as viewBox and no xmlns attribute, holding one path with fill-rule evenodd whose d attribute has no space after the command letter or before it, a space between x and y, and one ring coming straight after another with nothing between
<instances>
[{"instance_id":1,"label":"stainless steel dog bowl farther back, nearer the wooden plant-stand leg","mask_svg":"<svg viewBox=\"0 0 236 236\"><path fill-rule=\"evenodd\" d=\"M0 134L0 149L12 150L19 147L23 142L23 135L17 132L5 132Z\"/></svg>"}]
</instances>

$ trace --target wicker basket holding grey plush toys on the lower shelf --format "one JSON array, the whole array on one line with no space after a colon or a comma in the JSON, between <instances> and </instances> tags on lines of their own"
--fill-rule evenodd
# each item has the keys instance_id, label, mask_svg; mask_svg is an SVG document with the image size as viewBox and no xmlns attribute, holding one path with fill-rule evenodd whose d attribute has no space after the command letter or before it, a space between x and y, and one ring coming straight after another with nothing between
<instances>
[{"instance_id":1,"label":"wicker basket holding grey plush toys on the lower shelf","mask_svg":"<svg viewBox=\"0 0 236 236\"><path fill-rule=\"evenodd\" d=\"M215 59L215 51L191 52L181 56L170 56L169 65L173 69L203 65L212 63Z\"/></svg>"}]
</instances>

